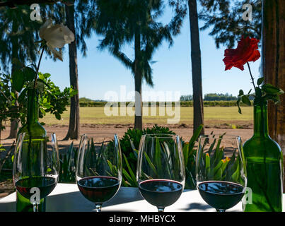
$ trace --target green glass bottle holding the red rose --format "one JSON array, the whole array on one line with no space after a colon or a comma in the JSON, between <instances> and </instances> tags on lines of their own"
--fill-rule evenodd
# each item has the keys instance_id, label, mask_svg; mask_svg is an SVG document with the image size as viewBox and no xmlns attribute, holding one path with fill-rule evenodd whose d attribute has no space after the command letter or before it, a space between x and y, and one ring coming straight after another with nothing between
<instances>
[{"instance_id":1,"label":"green glass bottle holding the red rose","mask_svg":"<svg viewBox=\"0 0 285 226\"><path fill-rule=\"evenodd\" d=\"M243 145L252 203L243 203L245 212L282 211L283 155L268 134L267 102L254 104L254 135ZM250 194L249 194L250 195Z\"/></svg>"}]
</instances>

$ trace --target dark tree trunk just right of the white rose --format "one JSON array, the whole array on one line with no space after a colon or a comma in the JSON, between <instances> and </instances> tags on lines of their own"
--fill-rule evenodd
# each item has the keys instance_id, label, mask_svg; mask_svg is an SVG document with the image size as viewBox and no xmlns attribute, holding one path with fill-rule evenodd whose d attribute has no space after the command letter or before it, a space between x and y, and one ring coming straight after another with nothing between
<instances>
[{"instance_id":1,"label":"dark tree trunk just right of the white rose","mask_svg":"<svg viewBox=\"0 0 285 226\"><path fill-rule=\"evenodd\" d=\"M67 27L75 33L74 26L74 5L73 6L65 6L66 11L66 25ZM69 44L69 77L70 77L70 85L74 88L74 90L78 89L78 71L77 71L77 47L76 47L76 39L74 42ZM64 140L78 139L80 136L80 123L79 123L79 93L71 97L70 103L70 117L69 117L69 131L66 134Z\"/></svg>"}]
</instances>

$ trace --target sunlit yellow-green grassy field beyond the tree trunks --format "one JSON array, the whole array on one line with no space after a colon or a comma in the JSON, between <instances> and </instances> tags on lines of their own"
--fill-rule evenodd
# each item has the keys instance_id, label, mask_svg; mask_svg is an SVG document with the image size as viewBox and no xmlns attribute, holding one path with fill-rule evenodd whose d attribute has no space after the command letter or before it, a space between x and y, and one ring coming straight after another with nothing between
<instances>
[{"instance_id":1,"label":"sunlit yellow-green grassy field beyond the tree trunks","mask_svg":"<svg viewBox=\"0 0 285 226\"><path fill-rule=\"evenodd\" d=\"M113 109L114 111L116 109ZM156 116L151 116L151 110ZM164 116L159 115L158 107L149 108L149 115L144 116L145 124L168 124L168 119L175 118L176 124L192 124L193 108L180 107L180 112L171 115L172 109L165 109ZM240 126L252 124L252 107L242 107L243 114L238 114L237 107L204 107L204 122L206 126L231 125ZM116 111L115 111L116 112ZM147 114L147 109L143 109L143 114ZM120 115L120 109L118 109ZM173 112L172 112L173 113ZM81 107L80 108L81 124L133 124L134 117L129 116L107 116L104 107ZM62 114L62 120L55 119L54 115L47 114L40 121L47 125L69 124L69 110Z\"/></svg>"}]
</instances>

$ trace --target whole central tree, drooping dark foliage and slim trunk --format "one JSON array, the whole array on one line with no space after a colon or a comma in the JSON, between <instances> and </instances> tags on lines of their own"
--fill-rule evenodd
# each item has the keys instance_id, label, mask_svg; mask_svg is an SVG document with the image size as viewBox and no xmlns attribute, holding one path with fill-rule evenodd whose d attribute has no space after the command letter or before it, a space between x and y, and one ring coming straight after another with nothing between
<instances>
[{"instance_id":1,"label":"whole central tree, drooping dark foliage and slim trunk","mask_svg":"<svg viewBox=\"0 0 285 226\"><path fill-rule=\"evenodd\" d=\"M163 1L104 1L98 0L95 11L95 31L103 35L99 49L107 48L110 53L132 71L135 90L134 128L142 129L141 83L153 86L151 59L163 40L173 44L173 35L178 34L182 20L174 16L169 24L157 22L163 14ZM171 1L173 2L173 1ZM176 8L176 15L182 13ZM185 11L184 11L185 13ZM123 44L132 44L134 59L122 52Z\"/></svg>"}]
</instances>

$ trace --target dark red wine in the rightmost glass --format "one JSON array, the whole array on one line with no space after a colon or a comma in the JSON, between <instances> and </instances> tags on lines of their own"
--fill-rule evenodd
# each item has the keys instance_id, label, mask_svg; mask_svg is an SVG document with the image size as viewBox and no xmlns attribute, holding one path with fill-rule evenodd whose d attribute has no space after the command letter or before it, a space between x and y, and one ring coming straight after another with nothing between
<instances>
[{"instance_id":1,"label":"dark red wine in the rightmost glass","mask_svg":"<svg viewBox=\"0 0 285 226\"><path fill-rule=\"evenodd\" d=\"M244 187L232 182L202 182L198 190L204 201L216 210L232 208L244 195Z\"/></svg>"}]
</instances>

